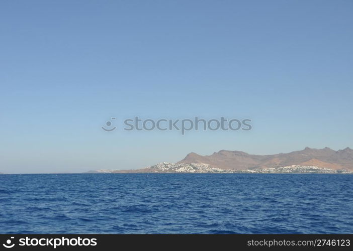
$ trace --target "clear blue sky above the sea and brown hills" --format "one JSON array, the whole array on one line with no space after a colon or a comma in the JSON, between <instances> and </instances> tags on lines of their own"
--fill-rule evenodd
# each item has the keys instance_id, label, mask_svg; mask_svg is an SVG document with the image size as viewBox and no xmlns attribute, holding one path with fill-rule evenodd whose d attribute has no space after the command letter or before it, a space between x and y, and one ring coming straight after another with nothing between
<instances>
[{"instance_id":1,"label":"clear blue sky above the sea and brown hills","mask_svg":"<svg viewBox=\"0 0 353 251\"><path fill-rule=\"evenodd\" d=\"M2 1L0 172L353 147L352 1ZM250 132L122 120L251 118ZM117 117L118 129L101 130Z\"/></svg>"}]
</instances>

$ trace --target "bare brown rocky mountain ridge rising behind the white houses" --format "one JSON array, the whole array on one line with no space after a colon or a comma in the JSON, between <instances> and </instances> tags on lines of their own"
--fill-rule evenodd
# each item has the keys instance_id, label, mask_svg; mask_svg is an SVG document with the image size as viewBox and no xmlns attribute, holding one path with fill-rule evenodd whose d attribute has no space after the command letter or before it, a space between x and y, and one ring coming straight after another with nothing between
<instances>
[{"instance_id":1,"label":"bare brown rocky mountain ridge rising behind the white houses","mask_svg":"<svg viewBox=\"0 0 353 251\"><path fill-rule=\"evenodd\" d=\"M317 166L334 170L353 170L353 150L345 148L334 151L328 147L303 150L274 155L252 155L240 151L221 150L212 155L188 154L180 163L202 163L216 168L246 170L258 168L276 168L291 165Z\"/></svg>"}]
</instances>

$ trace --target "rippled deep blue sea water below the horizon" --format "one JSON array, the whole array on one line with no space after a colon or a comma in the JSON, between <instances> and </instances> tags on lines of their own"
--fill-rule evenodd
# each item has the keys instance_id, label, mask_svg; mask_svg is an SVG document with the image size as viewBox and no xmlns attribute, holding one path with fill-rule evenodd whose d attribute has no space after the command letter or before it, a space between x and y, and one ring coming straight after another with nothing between
<instances>
[{"instance_id":1,"label":"rippled deep blue sea water below the horizon","mask_svg":"<svg viewBox=\"0 0 353 251\"><path fill-rule=\"evenodd\" d=\"M0 175L0 233L353 233L353 175Z\"/></svg>"}]
</instances>

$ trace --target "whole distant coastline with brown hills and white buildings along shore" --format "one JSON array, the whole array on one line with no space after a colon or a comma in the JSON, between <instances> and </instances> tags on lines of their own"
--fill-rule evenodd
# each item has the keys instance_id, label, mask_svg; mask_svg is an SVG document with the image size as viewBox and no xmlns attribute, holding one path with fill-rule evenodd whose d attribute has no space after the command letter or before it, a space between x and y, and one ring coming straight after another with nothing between
<instances>
[{"instance_id":1,"label":"whole distant coastline with brown hills and white buildings along shore","mask_svg":"<svg viewBox=\"0 0 353 251\"><path fill-rule=\"evenodd\" d=\"M88 173L353 173L353 150L305 148L291 153L251 155L221 150L209 156L188 154L183 160L132 170L100 169Z\"/></svg>"}]
</instances>

